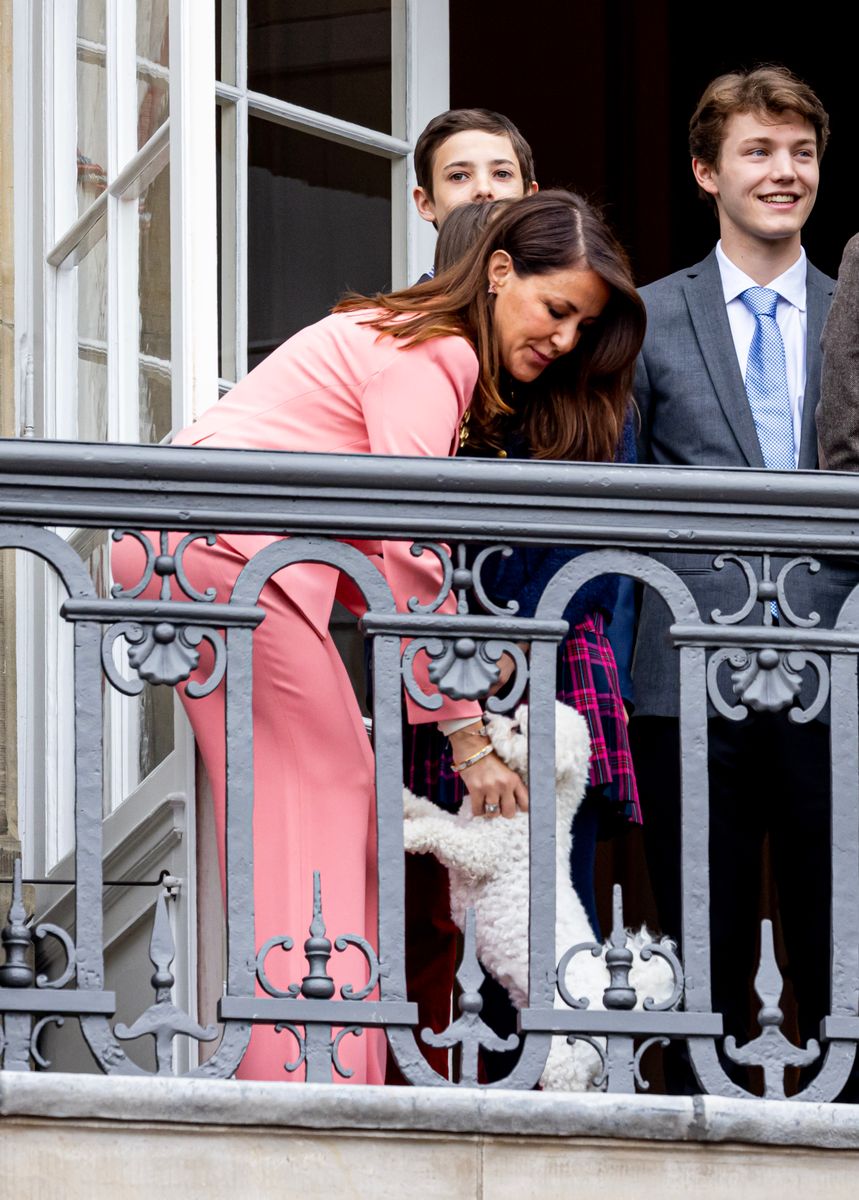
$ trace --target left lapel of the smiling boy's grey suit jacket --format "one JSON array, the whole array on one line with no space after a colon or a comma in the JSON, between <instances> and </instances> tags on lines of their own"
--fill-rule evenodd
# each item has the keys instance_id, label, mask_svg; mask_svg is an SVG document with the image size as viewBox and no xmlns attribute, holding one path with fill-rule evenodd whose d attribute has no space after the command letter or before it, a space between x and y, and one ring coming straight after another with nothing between
<instances>
[{"instance_id":1,"label":"left lapel of the smiling boy's grey suit jacket","mask_svg":"<svg viewBox=\"0 0 859 1200\"><path fill-rule=\"evenodd\" d=\"M725 419L737 438L747 466L763 467L761 444L731 335L715 251L703 263L692 268L683 283L683 290L701 356Z\"/></svg>"}]
</instances>

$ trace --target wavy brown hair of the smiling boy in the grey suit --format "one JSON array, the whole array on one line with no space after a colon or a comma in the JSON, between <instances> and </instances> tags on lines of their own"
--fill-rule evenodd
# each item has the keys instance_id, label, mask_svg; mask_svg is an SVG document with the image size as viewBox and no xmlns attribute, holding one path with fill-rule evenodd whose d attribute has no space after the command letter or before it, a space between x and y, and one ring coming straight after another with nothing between
<instances>
[{"instance_id":1,"label":"wavy brown hair of the smiling boy in the grey suit","mask_svg":"<svg viewBox=\"0 0 859 1200\"><path fill-rule=\"evenodd\" d=\"M717 168L725 126L734 113L785 112L799 113L813 126L819 161L829 140L829 115L807 83L777 65L732 71L708 84L689 122L689 151L692 158Z\"/></svg>"}]
</instances>

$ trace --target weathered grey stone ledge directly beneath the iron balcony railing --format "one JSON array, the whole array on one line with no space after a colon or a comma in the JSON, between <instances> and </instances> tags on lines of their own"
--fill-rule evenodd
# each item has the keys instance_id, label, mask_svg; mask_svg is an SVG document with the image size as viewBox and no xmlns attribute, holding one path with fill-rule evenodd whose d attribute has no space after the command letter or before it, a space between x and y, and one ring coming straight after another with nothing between
<instances>
[{"instance_id":1,"label":"weathered grey stone ledge directly beneath the iron balcony railing","mask_svg":"<svg viewBox=\"0 0 859 1200\"><path fill-rule=\"evenodd\" d=\"M0 1072L0 1117L859 1150L859 1105Z\"/></svg>"}]
</instances>

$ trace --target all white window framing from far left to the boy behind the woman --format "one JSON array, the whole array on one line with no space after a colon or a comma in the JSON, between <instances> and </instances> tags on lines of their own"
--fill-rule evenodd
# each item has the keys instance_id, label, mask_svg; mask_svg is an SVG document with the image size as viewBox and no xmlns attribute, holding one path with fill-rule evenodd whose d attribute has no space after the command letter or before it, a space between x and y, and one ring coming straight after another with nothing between
<instances>
[{"instance_id":1,"label":"all white window framing from far left to the boy behind the woman","mask_svg":"<svg viewBox=\"0 0 859 1200\"><path fill-rule=\"evenodd\" d=\"M247 121L251 115L301 130L388 158L391 163L391 277L395 286L414 281L432 262L434 233L414 208L412 150L426 122L444 110L447 86L447 0L392 0L392 112L397 136L367 130L299 106L251 94L215 80L215 6L169 0L170 118L137 151L128 130L136 112L133 91L136 6L108 0L108 44L125 47L124 68L114 72L109 91L109 187L78 216L74 163L67 152L76 134L77 20L74 0L13 0L14 56L14 198L16 198L16 404L22 437L73 437L74 418L54 397L77 379L78 330L74 319L74 272L68 266L85 252L104 222L108 235L109 295L137 290L137 205L133 199L160 169L170 172L172 376L173 427L199 416L218 396L216 103L236 115L236 163L233 211L238 217L229 283L235 296L230 329L236 347L236 377L247 370ZM244 11L244 0L240 0ZM239 18L236 32L246 42ZM112 42L113 40L113 42ZM54 48L62 42L62 61ZM238 47L236 47L238 49ZM238 54L246 62L246 53ZM157 71L157 66L155 67ZM74 140L71 140L74 145ZM65 146L65 149L64 149ZM166 162L169 157L169 167ZM71 178L70 178L71 173ZM227 214L224 206L224 214ZM226 270L226 266L224 266ZM224 311L230 310L224 293ZM133 305L108 304L109 436L137 440L130 418L139 366ZM97 348L94 348L97 349ZM151 364L158 368L158 364ZM71 869L60 856L67 829L60 797L65 781L59 763L67 748L59 744L60 722L52 719L46 697L59 696L56 587L52 593L30 554L19 556L18 678L19 814L28 875ZM53 622L53 624L52 624ZM46 630L48 636L46 637ZM54 650L52 653L52 644ZM53 664L53 665L52 665ZM60 667L60 670L66 670ZM53 672L53 674L52 674ZM52 740L53 739L53 740ZM122 736L127 758L128 731ZM158 854L181 846L188 886L173 913L176 929L176 1003L196 1012L194 758L187 722L176 706L175 750L144 784L128 794L127 762L114 774L115 794L125 797L106 818L108 862L124 878L151 874ZM115 756L116 757L116 756ZM122 762L122 755L118 756ZM156 778L157 776L157 778ZM152 786L148 786L152 785ZM59 859L59 860L58 860ZM120 868L121 864L121 868ZM146 874L146 877L149 877ZM133 894L131 889L128 896ZM121 889L116 890L121 898ZM65 919L68 895L56 888L40 892L43 913ZM149 899L149 898L146 898ZM113 901L112 901L113 902ZM143 904L143 900L142 900ZM133 905L132 905L133 910ZM106 910L108 940L120 940L137 919L128 904ZM178 1039L176 1064L184 1068L196 1045Z\"/></svg>"}]
</instances>

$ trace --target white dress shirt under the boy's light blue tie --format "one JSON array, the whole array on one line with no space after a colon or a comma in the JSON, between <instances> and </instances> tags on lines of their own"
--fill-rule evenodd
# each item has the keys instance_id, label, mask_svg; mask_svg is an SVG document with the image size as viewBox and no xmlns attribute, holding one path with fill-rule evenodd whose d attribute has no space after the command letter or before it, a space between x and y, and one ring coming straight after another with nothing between
<instances>
[{"instance_id":1,"label":"white dress shirt under the boy's light blue tie","mask_svg":"<svg viewBox=\"0 0 859 1200\"><path fill-rule=\"evenodd\" d=\"M731 335L734 340L734 349L737 350L737 359L743 373L743 382L745 383L749 348L755 335L756 320L753 313L740 300L740 295L746 288L757 288L761 284L756 283L745 271L741 271L739 266L731 262L722 250L721 241L716 244L716 262L719 263L719 274L722 277L722 292L728 311L728 322L731 323ZM800 247L799 258L793 266L788 266L782 275L767 284L773 292L779 293L775 319L785 342L787 388L791 394L791 413L793 415L794 462L799 462L799 442L803 432L803 401L805 398L806 269L805 251Z\"/></svg>"}]
</instances>

